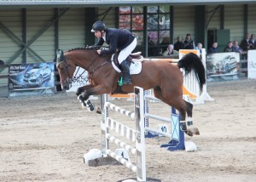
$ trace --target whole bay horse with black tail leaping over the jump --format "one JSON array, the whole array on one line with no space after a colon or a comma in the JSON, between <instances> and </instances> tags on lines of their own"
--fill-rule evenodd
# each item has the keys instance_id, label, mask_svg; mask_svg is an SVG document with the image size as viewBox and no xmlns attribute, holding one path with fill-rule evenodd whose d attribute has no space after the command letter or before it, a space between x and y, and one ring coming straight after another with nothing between
<instances>
[{"instance_id":1,"label":"whole bay horse with black tail leaping over the jump","mask_svg":"<svg viewBox=\"0 0 256 182\"><path fill-rule=\"evenodd\" d=\"M99 55L96 48L90 47L74 48L65 54L62 50L57 50L56 54L56 67L60 74L62 89L70 88L76 66L89 72L90 84L78 88L76 94L84 105L89 105L90 110L94 110L89 100L90 95L128 94L134 92L135 86L144 90L153 88L156 98L179 111L183 131L189 136L199 134L198 128L193 127L192 123L193 105L183 100L183 73L180 71L183 68L185 74L188 74L194 70L202 89L206 83L205 68L196 54L186 54L177 65L166 61L143 60L142 71L137 75L131 75L132 84L124 84L121 87L118 85L120 73L113 69L111 55Z\"/></svg>"}]
</instances>

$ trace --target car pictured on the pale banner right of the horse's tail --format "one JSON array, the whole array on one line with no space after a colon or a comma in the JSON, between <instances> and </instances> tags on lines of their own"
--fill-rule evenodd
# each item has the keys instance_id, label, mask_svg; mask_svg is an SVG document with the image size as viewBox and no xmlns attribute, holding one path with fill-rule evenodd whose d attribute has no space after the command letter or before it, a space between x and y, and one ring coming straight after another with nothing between
<instances>
[{"instance_id":1,"label":"car pictured on the pale banner right of the horse's tail","mask_svg":"<svg viewBox=\"0 0 256 182\"><path fill-rule=\"evenodd\" d=\"M229 73L236 68L236 58L233 55L227 55L223 60L219 60L215 66L215 70L218 73Z\"/></svg>"}]
</instances>

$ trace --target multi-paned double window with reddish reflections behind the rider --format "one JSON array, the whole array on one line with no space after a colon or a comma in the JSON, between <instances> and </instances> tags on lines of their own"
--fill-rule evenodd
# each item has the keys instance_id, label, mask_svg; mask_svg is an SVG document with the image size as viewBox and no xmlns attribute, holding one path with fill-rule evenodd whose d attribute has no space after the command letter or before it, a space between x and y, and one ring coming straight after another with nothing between
<instances>
[{"instance_id":1,"label":"multi-paned double window with reddish reflections behind the rider","mask_svg":"<svg viewBox=\"0 0 256 182\"><path fill-rule=\"evenodd\" d=\"M171 43L171 7L150 6L147 8L147 22L144 22L143 7L119 7L119 28L132 32L137 37L137 49L142 50L144 23L148 27L148 56L161 55Z\"/></svg>"}]
</instances>

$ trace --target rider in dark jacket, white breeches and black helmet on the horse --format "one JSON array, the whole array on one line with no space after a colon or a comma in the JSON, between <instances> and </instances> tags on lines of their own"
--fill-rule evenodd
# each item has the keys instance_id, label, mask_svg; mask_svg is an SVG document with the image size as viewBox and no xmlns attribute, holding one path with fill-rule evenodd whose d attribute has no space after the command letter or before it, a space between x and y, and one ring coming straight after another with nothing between
<instances>
[{"instance_id":1,"label":"rider in dark jacket, white breeches and black helmet on the horse","mask_svg":"<svg viewBox=\"0 0 256 182\"><path fill-rule=\"evenodd\" d=\"M99 38L96 45L102 46L104 42L109 45L108 49L96 50L98 54L114 54L116 51L120 51L118 60L125 74L124 84L131 84L129 65L126 64L125 60L136 48L137 38L125 29L107 28L102 21L96 21L91 32L94 32L94 35Z\"/></svg>"}]
</instances>

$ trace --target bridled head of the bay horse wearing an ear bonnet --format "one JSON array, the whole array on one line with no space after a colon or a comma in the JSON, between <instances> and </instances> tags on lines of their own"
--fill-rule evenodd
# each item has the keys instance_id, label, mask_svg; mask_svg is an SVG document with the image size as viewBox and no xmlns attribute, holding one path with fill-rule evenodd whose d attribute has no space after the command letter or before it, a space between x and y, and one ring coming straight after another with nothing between
<instances>
[{"instance_id":1,"label":"bridled head of the bay horse wearing an ear bonnet","mask_svg":"<svg viewBox=\"0 0 256 182\"><path fill-rule=\"evenodd\" d=\"M56 51L56 68L61 77L61 88L68 90L72 87L73 72L76 70L76 66L71 60L66 59L60 49Z\"/></svg>"}]
</instances>

